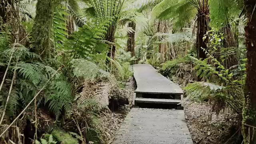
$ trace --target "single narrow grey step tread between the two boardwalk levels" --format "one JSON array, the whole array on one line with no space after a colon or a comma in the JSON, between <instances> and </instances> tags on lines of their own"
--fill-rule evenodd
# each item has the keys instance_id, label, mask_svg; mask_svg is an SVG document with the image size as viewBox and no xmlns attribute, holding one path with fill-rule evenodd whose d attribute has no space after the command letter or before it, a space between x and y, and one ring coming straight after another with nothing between
<instances>
[{"instance_id":1,"label":"single narrow grey step tread between the two boardwalk levels","mask_svg":"<svg viewBox=\"0 0 256 144\"><path fill-rule=\"evenodd\" d=\"M135 103L178 104L181 100L158 98L135 98Z\"/></svg>"}]
</instances>

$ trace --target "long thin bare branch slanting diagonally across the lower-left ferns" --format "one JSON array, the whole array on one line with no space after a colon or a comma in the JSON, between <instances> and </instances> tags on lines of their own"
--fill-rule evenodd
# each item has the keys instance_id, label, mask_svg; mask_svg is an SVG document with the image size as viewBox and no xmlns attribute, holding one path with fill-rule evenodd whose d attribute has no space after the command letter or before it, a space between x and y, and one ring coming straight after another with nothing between
<instances>
[{"instance_id":1,"label":"long thin bare branch slanting diagonally across the lower-left ferns","mask_svg":"<svg viewBox=\"0 0 256 144\"><path fill-rule=\"evenodd\" d=\"M46 85L48 84L48 82L50 82L50 80L57 74L57 72L62 69L63 66L61 66L60 68L58 68L58 70L51 76L51 78L49 78L49 80L44 84L44 86L39 90L39 92L34 96L34 98L28 103L28 105L24 108L24 110L22 110L22 112L20 112L20 114L12 121L12 123L4 130L4 132L2 132L2 134L0 135L3 136L4 133L14 124L14 122L16 122L16 120L18 120L18 118L25 112L25 110L30 106L30 104L32 102L34 102L34 100L36 99L36 97L40 94L40 92L42 92L42 90L46 87Z\"/></svg>"}]
</instances>

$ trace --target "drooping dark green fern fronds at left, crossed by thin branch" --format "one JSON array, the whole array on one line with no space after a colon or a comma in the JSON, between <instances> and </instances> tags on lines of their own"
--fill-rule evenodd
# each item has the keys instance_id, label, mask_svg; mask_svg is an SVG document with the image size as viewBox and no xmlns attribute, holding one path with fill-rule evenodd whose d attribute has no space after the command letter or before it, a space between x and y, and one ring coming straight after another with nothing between
<instances>
[{"instance_id":1,"label":"drooping dark green fern fronds at left, crossed by thin branch","mask_svg":"<svg viewBox=\"0 0 256 144\"><path fill-rule=\"evenodd\" d=\"M13 89L11 101L8 104L8 115L14 114L19 107L24 107L30 102L38 89L42 88L48 79L56 72L55 68L45 65L40 61L41 57L29 51L28 48L17 44L16 47L6 49L1 52L1 61L7 65L10 55L13 53L13 58L10 64L11 76L16 71L16 86ZM49 108L54 112L56 117L60 115L62 107L64 110L70 110L70 85L57 74L51 80L44 91L46 102L50 102ZM4 94L4 101L7 95ZM40 102L40 101L38 101ZM17 106L15 106L17 105Z\"/></svg>"}]
</instances>

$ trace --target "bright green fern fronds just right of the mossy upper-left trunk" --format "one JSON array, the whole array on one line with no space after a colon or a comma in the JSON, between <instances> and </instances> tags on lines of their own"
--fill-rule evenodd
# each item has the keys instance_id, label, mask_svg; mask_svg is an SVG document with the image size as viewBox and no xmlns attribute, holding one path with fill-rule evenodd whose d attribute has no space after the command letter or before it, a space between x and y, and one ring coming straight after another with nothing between
<instances>
[{"instance_id":1,"label":"bright green fern fronds just right of the mossy upper-left trunk","mask_svg":"<svg viewBox=\"0 0 256 144\"><path fill-rule=\"evenodd\" d=\"M68 50L70 56L76 58L84 58L89 60L97 60L98 58L106 58L108 50L107 41L102 40L106 34L110 19L100 20L98 18L87 22L78 32L72 34L72 39L68 40L65 49ZM105 54L104 54L105 53Z\"/></svg>"}]
</instances>

